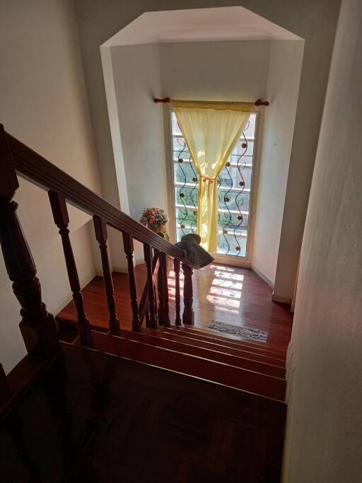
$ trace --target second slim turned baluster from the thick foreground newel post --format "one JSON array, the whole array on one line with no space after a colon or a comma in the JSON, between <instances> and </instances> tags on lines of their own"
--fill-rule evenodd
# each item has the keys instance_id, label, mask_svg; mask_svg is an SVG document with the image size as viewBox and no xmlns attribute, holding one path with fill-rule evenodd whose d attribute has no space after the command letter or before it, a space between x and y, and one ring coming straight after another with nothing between
<instances>
[{"instance_id":1,"label":"second slim turned baluster from the thick foreground newel post","mask_svg":"<svg viewBox=\"0 0 362 483\"><path fill-rule=\"evenodd\" d=\"M119 319L116 313L115 291L113 289L112 273L110 271L110 259L107 251L107 225L99 216L93 216L95 238L99 243L100 257L103 268L103 284L105 286L105 296L107 297L108 312L110 313L110 333L119 335Z\"/></svg>"}]
</instances>

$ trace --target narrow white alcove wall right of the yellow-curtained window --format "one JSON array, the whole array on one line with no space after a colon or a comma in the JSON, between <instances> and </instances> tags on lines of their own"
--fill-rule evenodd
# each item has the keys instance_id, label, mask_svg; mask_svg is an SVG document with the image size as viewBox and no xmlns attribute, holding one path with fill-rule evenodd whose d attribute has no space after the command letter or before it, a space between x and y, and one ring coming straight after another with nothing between
<instances>
[{"instance_id":1,"label":"narrow white alcove wall right of the yellow-curtained window","mask_svg":"<svg viewBox=\"0 0 362 483\"><path fill-rule=\"evenodd\" d=\"M274 286L303 58L303 41L271 42L252 268Z\"/></svg>"}]
</instances>

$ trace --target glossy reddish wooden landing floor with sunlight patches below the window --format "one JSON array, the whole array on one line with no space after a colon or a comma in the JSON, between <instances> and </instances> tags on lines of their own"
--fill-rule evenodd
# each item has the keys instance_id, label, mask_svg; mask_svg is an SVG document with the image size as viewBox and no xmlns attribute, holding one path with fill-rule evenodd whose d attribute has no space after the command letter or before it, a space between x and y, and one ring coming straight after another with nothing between
<instances>
[{"instance_id":1,"label":"glossy reddish wooden landing floor with sunlight patches below the window","mask_svg":"<svg viewBox=\"0 0 362 483\"><path fill-rule=\"evenodd\" d=\"M146 281L144 265L136 267L139 298ZM183 280L180 284L182 287ZM130 330L132 322L127 274L114 273L117 315L122 328ZM168 274L170 318L175 320L175 279ZM195 327L207 327L210 320L256 327L269 332L267 344L286 348L291 338L293 317L288 305L271 301L271 288L250 269L211 264L194 270ZM95 277L83 289L86 313L93 327L108 327L108 313L102 277ZM76 322L73 302L58 317Z\"/></svg>"}]
</instances>

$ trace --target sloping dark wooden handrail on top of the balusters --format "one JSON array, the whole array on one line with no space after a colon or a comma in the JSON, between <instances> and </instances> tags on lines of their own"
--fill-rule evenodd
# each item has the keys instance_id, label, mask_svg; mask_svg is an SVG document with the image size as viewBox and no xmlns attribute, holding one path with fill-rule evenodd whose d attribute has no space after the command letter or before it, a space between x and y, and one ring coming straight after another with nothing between
<instances>
[{"instance_id":1,"label":"sloping dark wooden handrail on top of the balusters","mask_svg":"<svg viewBox=\"0 0 362 483\"><path fill-rule=\"evenodd\" d=\"M18 175L35 182L47 191L52 190L61 194L67 202L91 216L99 216L112 228L129 233L135 240L148 243L153 248L185 263L182 250L105 201L11 134L6 133L6 137Z\"/></svg>"}]
</instances>

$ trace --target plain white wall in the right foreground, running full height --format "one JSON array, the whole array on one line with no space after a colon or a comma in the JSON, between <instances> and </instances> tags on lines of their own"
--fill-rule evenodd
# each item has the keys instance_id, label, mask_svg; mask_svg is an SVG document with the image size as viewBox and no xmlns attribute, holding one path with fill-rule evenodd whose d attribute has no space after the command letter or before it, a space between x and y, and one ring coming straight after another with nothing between
<instances>
[{"instance_id":1,"label":"plain white wall in the right foreground, running full height","mask_svg":"<svg viewBox=\"0 0 362 483\"><path fill-rule=\"evenodd\" d=\"M341 6L288 358L284 482L362 475L362 4Z\"/></svg>"}]
</instances>

